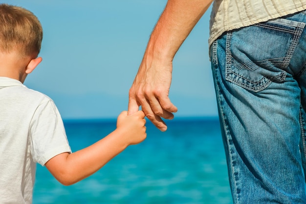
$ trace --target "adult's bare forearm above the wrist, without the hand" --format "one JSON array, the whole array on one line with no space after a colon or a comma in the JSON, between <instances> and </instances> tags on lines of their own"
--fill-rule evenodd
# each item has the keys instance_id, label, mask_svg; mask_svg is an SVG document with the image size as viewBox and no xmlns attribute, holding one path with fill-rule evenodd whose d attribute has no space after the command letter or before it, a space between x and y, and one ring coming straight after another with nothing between
<instances>
[{"instance_id":1,"label":"adult's bare forearm above the wrist, without the hand","mask_svg":"<svg viewBox=\"0 0 306 204\"><path fill-rule=\"evenodd\" d=\"M168 0L151 34L145 56L173 59L212 0Z\"/></svg>"}]
</instances>

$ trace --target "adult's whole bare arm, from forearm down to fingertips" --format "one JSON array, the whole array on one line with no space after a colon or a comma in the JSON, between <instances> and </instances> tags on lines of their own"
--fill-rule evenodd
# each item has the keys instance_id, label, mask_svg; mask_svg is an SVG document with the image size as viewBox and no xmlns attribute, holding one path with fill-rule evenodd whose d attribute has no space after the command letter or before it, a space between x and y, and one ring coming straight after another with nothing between
<instances>
[{"instance_id":1,"label":"adult's whole bare arm, from forearm down to fingertips","mask_svg":"<svg viewBox=\"0 0 306 204\"><path fill-rule=\"evenodd\" d=\"M177 111L169 99L173 58L212 1L168 0L129 91L129 114L141 106L158 129L167 130L161 117L172 119Z\"/></svg>"}]
</instances>

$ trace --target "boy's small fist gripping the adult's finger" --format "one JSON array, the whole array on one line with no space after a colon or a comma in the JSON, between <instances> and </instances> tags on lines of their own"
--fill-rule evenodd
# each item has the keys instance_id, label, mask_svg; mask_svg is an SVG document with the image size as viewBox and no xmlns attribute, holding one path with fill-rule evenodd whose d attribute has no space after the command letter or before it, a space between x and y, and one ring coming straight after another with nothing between
<instances>
[{"instance_id":1,"label":"boy's small fist gripping the adult's finger","mask_svg":"<svg viewBox=\"0 0 306 204\"><path fill-rule=\"evenodd\" d=\"M145 113L138 111L128 115L127 111L123 111L117 118L117 130L123 133L123 138L127 145L138 144L145 140L146 119Z\"/></svg>"}]
</instances>

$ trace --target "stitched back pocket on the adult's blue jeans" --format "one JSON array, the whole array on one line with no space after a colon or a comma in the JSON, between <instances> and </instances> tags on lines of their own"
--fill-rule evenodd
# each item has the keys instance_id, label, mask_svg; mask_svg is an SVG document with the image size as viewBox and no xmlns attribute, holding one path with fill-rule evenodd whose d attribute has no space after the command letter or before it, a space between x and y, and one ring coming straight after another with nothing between
<instances>
[{"instance_id":1,"label":"stitched back pocket on the adult's blue jeans","mask_svg":"<svg viewBox=\"0 0 306 204\"><path fill-rule=\"evenodd\" d=\"M277 19L230 31L226 37L226 80L250 91L282 82L305 23Z\"/></svg>"}]
</instances>

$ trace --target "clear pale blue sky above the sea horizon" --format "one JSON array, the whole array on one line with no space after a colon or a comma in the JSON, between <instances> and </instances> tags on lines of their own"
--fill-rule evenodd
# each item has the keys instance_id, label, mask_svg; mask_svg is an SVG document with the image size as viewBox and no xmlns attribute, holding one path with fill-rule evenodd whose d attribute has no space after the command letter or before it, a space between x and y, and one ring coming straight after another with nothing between
<instances>
[{"instance_id":1,"label":"clear pale blue sky above the sea horizon","mask_svg":"<svg viewBox=\"0 0 306 204\"><path fill-rule=\"evenodd\" d=\"M3 1L2 1L3 2ZM43 62L25 85L50 96L63 119L115 118L166 0L4 0L41 21ZM174 59L176 117L216 116L206 12Z\"/></svg>"}]
</instances>

